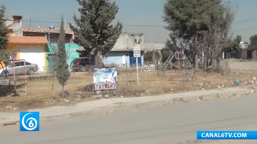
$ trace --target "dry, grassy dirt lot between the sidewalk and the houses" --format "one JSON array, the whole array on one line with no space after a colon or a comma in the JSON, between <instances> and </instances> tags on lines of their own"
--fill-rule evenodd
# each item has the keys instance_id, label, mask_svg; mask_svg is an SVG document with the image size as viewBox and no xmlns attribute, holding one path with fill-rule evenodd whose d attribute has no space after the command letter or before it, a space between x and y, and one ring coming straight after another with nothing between
<instances>
[{"instance_id":1,"label":"dry, grassy dirt lot between the sidewalk and the houses","mask_svg":"<svg viewBox=\"0 0 257 144\"><path fill-rule=\"evenodd\" d=\"M240 63L240 61L238 61ZM231 65L230 65L231 66ZM253 66L251 66L253 67ZM139 83L137 84L136 70L118 70L118 89L114 91L102 91L102 95L107 97L138 97L144 95L158 95L165 93L179 93L184 91L208 90L219 87L235 87L234 76L243 82L257 77L253 71L232 70L229 75L226 73L196 72L199 77L188 75L188 82L183 82L183 71L139 71ZM182 75L182 77L171 79ZM195 79L196 78L196 79ZM0 88L0 112L14 112L31 108L44 108L55 105L74 105L81 101L95 100L96 95L93 90L92 73L71 73L67 85L65 86L67 100L60 99L61 86L53 74L40 77L27 77L27 95L25 95L24 76L16 78L17 95L13 96L14 87ZM13 78L10 78L13 85ZM9 91L9 95L5 95ZM11 108L6 108L10 106Z\"/></svg>"}]
</instances>

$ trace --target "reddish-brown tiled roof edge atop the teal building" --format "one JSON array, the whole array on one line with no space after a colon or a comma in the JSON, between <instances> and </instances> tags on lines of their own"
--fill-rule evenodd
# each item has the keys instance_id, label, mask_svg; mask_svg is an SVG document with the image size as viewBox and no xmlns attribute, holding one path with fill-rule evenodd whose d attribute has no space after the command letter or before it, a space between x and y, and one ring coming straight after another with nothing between
<instances>
[{"instance_id":1,"label":"reddish-brown tiled roof edge atop the teal building","mask_svg":"<svg viewBox=\"0 0 257 144\"><path fill-rule=\"evenodd\" d=\"M23 32L52 32L52 33L60 33L60 29L59 28L28 28L28 27L23 27L22 28ZM70 29L66 29L65 33L68 34L73 34L73 31Z\"/></svg>"}]
</instances>

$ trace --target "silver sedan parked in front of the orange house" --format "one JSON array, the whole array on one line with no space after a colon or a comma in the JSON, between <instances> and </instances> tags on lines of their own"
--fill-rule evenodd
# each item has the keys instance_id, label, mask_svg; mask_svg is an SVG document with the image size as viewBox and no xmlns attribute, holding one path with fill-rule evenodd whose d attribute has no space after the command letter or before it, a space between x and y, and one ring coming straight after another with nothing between
<instances>
[{"instance_id":1,"label":"silver sedan parked in front of the orange house","mask_svg":"<svg viewBox=\"0 0 257 144\"><path fill-rule=\"evenodd\" d=\"M38 71L37 64L33 64L26 61L25 65L26 65L26 74L34 74L34 72ZM6 74L7 75L14 74L13 70L15 70L15 74L25 74L24 61L15 61L14 66L15 67L13 68L13 63L11 63L11 65L6 67L7 68L6 70L5 70L5 67L4 69L0 68L1 76L6 76Z\"/></svg>"}]
</instances>

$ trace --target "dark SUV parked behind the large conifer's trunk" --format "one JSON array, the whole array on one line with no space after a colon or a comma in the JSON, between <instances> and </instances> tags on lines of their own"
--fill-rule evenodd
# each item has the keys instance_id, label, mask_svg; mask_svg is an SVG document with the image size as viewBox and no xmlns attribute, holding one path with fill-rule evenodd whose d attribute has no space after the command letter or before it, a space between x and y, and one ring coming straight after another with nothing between
<instances>
[{"instance_id":1,"label":"dark SUV parked behind the large conifer's trunk","mask_svg":"<svg viewBox=\"0 0 257 144\"><path fill-rule=\"evenodd\" d=\"M70 68L73 71L87 71L90 66L95 65L95 60L91 57L74 58L70 63ZM102 63L102 66L103 63Z\"/></svg>"}]
</instances>

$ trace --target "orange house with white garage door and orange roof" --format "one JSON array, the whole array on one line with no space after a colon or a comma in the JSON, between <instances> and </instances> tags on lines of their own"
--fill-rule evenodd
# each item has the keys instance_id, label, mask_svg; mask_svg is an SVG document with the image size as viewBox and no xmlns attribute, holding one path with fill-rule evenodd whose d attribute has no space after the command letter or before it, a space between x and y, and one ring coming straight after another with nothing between
<instances>
[{"instance_id":1,"label":"orange house with white garage door and orange roof","mask_svg":"<svg viewBox=\"0 0 257 144\"><path fill-rule=\"evenodd\" d=\"M25 59L31 63L38 64L38 71L46 71L46 44L48 43L45 36L31 37L23 36L22 33L22 16L11 16L7 19L9 43L7 50L16 47L19 52L9 55L10 60Z\"/></svg>"}]
</instances>

